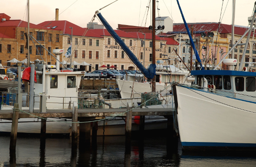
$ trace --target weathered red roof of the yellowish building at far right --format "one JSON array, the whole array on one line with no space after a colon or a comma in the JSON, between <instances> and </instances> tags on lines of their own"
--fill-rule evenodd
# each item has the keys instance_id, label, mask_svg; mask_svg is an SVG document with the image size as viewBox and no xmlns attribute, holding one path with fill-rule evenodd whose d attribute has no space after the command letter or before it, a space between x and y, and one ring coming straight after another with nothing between
<instances>
[{"instance_id":1,"label":"weathered red roof of the yellowish building at far right","mask_svg":"<svg viewBox=\"0 0 256 167\"><path fill-rule=\"evenodd\" d=\"M188 27L190 28L190 25L194 25L194 31L195 32L212 32L212 31L217 31L219 23L217 22L205 22L205 23L188 23ZM244 32L246 32L247 27L245 26L239 26L235 25L235 34L236 35L243 35ZM167 32L167 34L171 34L174 32L187 32L185 25L182 23L174 24L173 26L173 32ZM220 34L223 33L228 33L231 34L232 32L232 25L227 25L227 24L222 24L220 23L220 27L218 32ZM251 35L253 36L253 34Z\"/></svg>"}]
</instances>

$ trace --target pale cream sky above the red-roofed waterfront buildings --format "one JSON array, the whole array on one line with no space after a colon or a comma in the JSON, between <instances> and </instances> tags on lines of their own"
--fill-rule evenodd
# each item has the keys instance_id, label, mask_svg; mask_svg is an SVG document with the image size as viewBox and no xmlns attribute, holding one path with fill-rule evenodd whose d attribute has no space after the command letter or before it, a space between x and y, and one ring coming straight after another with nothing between
<instances>
[{"instance_id":1,"label":"pale cream sky above the red-roofed waterfront buildings","mask_svg":"<svg viewBox=\"0 0 256 167\"><path fill-rule=\"evenodd\" d=\"M95 11L115 0L30 0L30 23L39 24L55 20L55 9L59 9L59 20L67 20L80 27L86 27ZM174 23L183 23L177 0L158 0L157 16L169 16ZM221 22L232 24L233 0L179 0L187 23ZM100 10L102 16L113 29L118 24L151 25L150 0L118 0ZM255 0L236 0L235 25L248 26L247 18L252 16ZM27 0L8 0L1 3L1 12L11 17L27 21ZM148 10L149 9L149 10ZM222 9L222 10L221 10ZM147 19L146 19L147 18ZM96 18L94 22L101 24Z\"/></svg>"}]
</instances>

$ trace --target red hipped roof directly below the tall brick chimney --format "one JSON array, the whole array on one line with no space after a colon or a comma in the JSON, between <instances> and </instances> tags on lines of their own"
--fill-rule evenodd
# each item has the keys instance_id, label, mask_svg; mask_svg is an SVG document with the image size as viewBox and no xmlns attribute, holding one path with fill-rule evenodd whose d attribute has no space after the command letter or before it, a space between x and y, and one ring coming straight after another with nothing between
<instances>
[{"instance_id":1,"label":"red hipped roof directly below the tall brick chimney","mask_svg":"<svg viewBox=\"0 0 256 167\"><path fill-rule=\"evenodd\" d=\"M43 29L51 29L51 30L59 30L63 31L63 34L72 34L73 29L73 35L77 36L83 36L87 28L79 27L78 25L73 24L72 22L66 21L66 20L58 20L58 21L46 21L38 24ZM72 27L69 28L69 27ZM100 35L97 35L95 33L92 33L88 31L85 34L85 37L95 37L95 38L102 38Z\"/></svg>"}]
</instances>

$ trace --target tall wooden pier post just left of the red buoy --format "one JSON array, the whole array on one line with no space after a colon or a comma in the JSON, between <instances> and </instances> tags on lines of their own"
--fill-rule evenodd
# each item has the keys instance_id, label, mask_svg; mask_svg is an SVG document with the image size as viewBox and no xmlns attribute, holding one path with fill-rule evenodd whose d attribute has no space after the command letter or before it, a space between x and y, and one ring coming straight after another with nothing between
<instances>
[{"instance_id":1,"label":"tall wooden pier post just left of the red buoy","mask_svg":"<svg viewBox=\"0 0 256 167\"><path fill-rule=\"evenodd\" d=\"M125 149L131 149L131 102L127 103L126 121L125 121Z\"/></svg>"}]
</instances>

